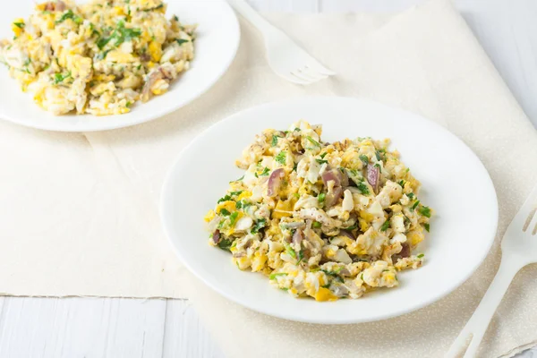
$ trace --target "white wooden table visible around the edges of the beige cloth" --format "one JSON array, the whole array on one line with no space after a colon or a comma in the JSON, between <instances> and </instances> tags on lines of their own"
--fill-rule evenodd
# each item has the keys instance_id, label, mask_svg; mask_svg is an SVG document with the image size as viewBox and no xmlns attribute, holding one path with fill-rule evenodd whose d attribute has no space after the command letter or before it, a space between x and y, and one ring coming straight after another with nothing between
<instances>
[{"instance_id":1,"label":"white wooden table visible around the edges of the beige cloth","mask_svg":"<svg viewBox=\"0 0 537 358\"><path fill-rule=\"evenodd\" d=\"M174 0L168 0L174 1ZM250 0L262 11L401 11L422 0ZM455 0L537 127L537 2ZM506 118L507 120L507 118ZM517 358L530 358L526 351ZM0 357L223 357L187 300L0 297Z\"/></svg>"}]
</instances>

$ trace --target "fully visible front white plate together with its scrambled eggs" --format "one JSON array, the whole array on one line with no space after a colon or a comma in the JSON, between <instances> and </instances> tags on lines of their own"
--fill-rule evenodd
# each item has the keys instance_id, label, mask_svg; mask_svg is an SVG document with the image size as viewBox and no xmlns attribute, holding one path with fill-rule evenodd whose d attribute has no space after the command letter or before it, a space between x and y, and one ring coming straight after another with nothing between
<instances>
[{"instance_id":1,"label":"fully visible front white plate together with its scrambled eggs","mask_svg":"<svg viewBox=\"0 0 537 358\"><path fill-rule=\"evenodd\" d=\"M251 108L183 150L161 200L183 263L286 320L382 320L433 303L493 242L480 160L419 115L355 98Z\"/></svg>"}]
</instances>

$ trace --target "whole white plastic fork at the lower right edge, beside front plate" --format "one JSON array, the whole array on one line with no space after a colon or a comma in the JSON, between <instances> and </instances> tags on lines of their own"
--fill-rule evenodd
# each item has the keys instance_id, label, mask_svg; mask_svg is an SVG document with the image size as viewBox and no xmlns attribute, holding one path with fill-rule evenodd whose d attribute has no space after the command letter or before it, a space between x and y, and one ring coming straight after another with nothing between
<instances>
[{"instance_id":1,"label":"whole white plastic fork at the lower right edge, beside front plate","mask_svg":"<svg viewBox=\"0 0 537 358\"><path fill-rule=\"evenodd\" d=\"M465 354L465 358L475 356L490 320L516 273L524 266L537 262L536 209L537 186L533 188L529 198L525 200L524 205L507 227L501 242L502 257L498 273L483 296L482 302L449 348L445 358L459 357L462 354ZM470 345L465 351L469 338L471 338Z\"/></svg>"}]
</instances>

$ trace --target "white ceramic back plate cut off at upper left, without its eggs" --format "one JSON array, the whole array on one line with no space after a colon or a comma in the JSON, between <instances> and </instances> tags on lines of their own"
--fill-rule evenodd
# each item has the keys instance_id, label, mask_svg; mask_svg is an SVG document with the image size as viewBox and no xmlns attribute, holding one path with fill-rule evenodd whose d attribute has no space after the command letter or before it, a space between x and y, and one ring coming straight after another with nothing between
<instances>
[{"instance_id":1,"label":"white ceramic back plate cut off at upper left, without its eggs","mask_svg":"<svg viewBox=\"0 0 537 358\"><path fill-rule=\"evenodd\" d=\"M81 1L79 1L81 2ZM27 19L34 0L17 0L0 12L0 38L11 38L11 22ZM166 16L176 14L184 23L199 25L192 67L170 90L145 104L137 103L125 115L55 116L38 107L30 93L22 93L4 65L0 65L0 118L38 129L64 132L90 132L141 124L166 115L198 98L226 72L239 45L240 30L233 10L224 0L168 0Z\"/></svg>"}]
</instances>

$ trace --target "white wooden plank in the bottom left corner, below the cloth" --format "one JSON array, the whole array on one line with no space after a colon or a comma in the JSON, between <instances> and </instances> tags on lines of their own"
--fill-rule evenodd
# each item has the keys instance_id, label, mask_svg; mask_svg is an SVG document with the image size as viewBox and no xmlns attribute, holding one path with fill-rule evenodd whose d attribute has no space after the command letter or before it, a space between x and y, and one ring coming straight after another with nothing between
<instances>
[{"instance_id":1,"label":"white wooden plank in the bottom left corner, below the cloth","mask_svg":"<svg viewBox=\"0 0 537 358\"><path fill-rule=\"evenodd\" d=\"M165 300L5 297L0 356L161 356L165 318Z\"/></svg>"}]
</instances>

